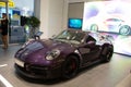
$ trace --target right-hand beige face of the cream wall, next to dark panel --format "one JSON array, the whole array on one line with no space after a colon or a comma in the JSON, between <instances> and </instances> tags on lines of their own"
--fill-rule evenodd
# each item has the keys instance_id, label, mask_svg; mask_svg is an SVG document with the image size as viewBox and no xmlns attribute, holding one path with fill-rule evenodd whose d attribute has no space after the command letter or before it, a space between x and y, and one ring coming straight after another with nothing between
<instances>
[{"instance_id":1,"label":"right-hand beige face of the cream wall, next to dark panel","mask_svg":"<svg viewBox=\"0 0 131 87\"><path fill-rule=\"evenodd\" d=\"M49 4L48 36L51 37L62 30L63 0L49 0Z\"/></svg>"}]
</instances>

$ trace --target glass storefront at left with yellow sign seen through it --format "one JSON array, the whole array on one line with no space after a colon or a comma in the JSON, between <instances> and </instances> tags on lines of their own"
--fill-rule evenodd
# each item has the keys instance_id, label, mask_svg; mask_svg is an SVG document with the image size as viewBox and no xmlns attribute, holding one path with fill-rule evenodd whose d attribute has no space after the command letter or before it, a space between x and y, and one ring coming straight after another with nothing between
<instances>
[{"instance_id":1,"label":"glass storefront at left with yellow sign seen through it","mask_svg":"<svg viewBox=\"0 0 131 87\"><path fill-rule=\"evenodd\" d=\"M0 20L5 13L4 2L0 4ZM9 0L9 44L21 44L27 40L29 28L25 25L25 17L34 14L34 0ZM23 24L24 23L24 24ZM0 40L0 44L1 40Z\"/></svg>"}]
</instances>

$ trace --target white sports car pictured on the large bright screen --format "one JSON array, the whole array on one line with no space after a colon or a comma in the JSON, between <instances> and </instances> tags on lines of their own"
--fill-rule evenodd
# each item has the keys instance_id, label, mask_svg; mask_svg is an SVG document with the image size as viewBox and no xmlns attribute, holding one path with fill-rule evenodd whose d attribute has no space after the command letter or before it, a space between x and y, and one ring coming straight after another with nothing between
<instances>
[{"instance_id":1,"label":"white sports car pictured on the large bright screen","mask_svg":"<svg viewBox=\"0 0 131 87\"><path fill-rule=\"evenodd\" d=\"M102 18L100 16L92 17L87 21L86 28L91 30L110 32L120 35L131 35L130 21L120 17L119 15L108 15Z\"/></svg>"}]
</instances>

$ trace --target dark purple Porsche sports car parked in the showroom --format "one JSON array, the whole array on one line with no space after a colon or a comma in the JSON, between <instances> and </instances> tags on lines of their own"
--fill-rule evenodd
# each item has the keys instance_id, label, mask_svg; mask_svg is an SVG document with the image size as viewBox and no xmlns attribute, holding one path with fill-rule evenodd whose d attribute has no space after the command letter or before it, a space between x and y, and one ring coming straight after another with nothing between
<instances>
[{"instance_id":1,"label":"dark purple Porsche sports car parked in the showroom","mask_svg":"<svg viewBox=\"0 0 131 87\"><path fill-rule=\"evenodd\" d=\"M82 67L95 62L109 62L114 54L111 41L98 33L62 30L49 39L25 42L14 55L15 71L29 78L72 78Z\"/></svg>"}]
</instances>

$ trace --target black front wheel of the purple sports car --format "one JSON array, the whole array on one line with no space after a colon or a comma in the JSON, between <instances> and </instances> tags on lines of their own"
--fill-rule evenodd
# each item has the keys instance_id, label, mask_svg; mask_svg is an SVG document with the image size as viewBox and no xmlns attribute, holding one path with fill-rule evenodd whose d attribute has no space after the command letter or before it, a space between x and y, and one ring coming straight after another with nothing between
<instances>
[{"instance_id":1,"label":"black front wheel of the purple sports car","mask_svg":"<svg viewBox=\"0 0 131 87\"><path fill-rule=\"evenodd\" d=\"M78 74L79 59L74 55L68 57L62 66L62 77L66 79L72 78Z\"/></svg>"}]
</instances>

